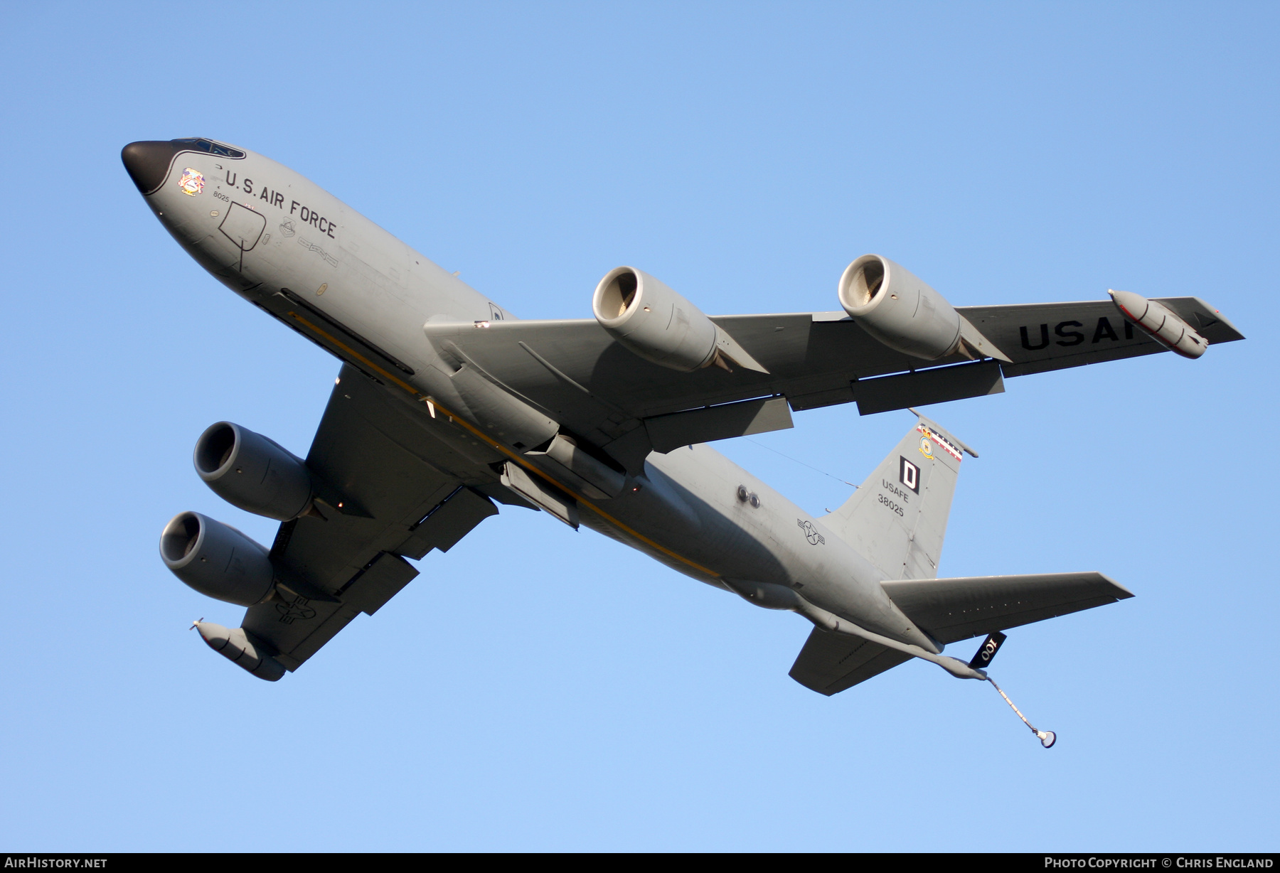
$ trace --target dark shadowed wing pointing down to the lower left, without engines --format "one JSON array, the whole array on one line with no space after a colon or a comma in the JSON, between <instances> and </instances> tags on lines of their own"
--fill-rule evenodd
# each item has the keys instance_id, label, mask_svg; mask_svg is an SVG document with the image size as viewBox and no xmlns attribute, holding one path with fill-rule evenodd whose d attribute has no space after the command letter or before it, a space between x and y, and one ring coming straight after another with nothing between
<instances>
[{"instance_id":1,"label":"dark shadowed wing pointing down to the lower left, without engines","mask_svg":"<svg viewBox=\"0 0 1280 873\"><path fill-rule=\"evenodd\" d=\"M361 612L374 614L415 576L404 558L447 552L498 512L493 474L343 366L307 466L324 483L319 516L280 525L271 558L278 599L250 607L243 629L297 669ZM339 508L340 507L340 508Z\"/></svg>"}]
</instances>

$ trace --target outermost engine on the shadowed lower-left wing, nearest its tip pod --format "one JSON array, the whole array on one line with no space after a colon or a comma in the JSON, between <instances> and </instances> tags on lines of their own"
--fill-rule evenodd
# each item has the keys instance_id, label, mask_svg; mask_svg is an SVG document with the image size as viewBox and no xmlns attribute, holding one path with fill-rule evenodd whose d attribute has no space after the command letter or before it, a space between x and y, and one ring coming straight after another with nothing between
<instances>
[{"instance_id":1,"label":"outermost engine on the shadowed lower-left wing, nearest its tip pod","mask_svg":"<svg viewBox=\"0 0 1280 873\"><path fill-rule=\"evenodd\" d=\"M160 558L187 585L227 603L252 607L275 589L266 549L198 512L180 512L165 525Z\"/></svg>"}]
</instances>

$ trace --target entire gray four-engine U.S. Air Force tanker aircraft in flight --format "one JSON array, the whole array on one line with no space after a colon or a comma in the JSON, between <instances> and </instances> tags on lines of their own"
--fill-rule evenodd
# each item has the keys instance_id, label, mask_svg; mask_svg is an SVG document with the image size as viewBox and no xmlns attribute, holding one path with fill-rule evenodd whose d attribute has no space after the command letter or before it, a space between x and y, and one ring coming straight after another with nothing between
<instances>
[{"instance_id":1,"label":"entire gray four-engine U.S. Air Force tanker aircraft in flight","mask_svg":"<svg viewBox=\"0 0 1280 873\"><path fill-rule=\"evenodd\" d=\"M520 320L262 155L193 137L133 142L122 159L188 255L342 361L305 458L229 421L196 443L219 497L282 522L270 549L196 512L160 538L182 581L247 607L241 627L195 627L269 681L497 504L804 616L814 627L791 676L822 694L913 657L987 680L1001 631L1132 594L1097 572L937 579L960 462L977 453L924 416L822 517L707 443L791 428L801 410L902 410L1243 338L1196 297L956 307L879 255L849 265L833 312L708 316L620 266L595 288L595 317ZM942 654L982 634L970 662Z\"/></svg>"}]
</instances>

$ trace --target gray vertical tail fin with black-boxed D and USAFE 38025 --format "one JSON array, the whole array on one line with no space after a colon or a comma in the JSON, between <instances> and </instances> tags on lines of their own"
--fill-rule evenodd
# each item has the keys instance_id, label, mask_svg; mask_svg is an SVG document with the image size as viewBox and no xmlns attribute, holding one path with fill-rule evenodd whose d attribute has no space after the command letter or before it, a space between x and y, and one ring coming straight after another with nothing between
<instances>
[{"instance_id":1,"label":"gray vertical tail fin with black-boxed D and USAFE 38025","mask_svg":"<svg viewBox=\"0 0 1280 873\"><path fill-rule=\"evenodd\" d=\"M934 579L965 451L977 457L920 416L845 506L823 521L890 579Z\"/></svg>"}]
</instances>

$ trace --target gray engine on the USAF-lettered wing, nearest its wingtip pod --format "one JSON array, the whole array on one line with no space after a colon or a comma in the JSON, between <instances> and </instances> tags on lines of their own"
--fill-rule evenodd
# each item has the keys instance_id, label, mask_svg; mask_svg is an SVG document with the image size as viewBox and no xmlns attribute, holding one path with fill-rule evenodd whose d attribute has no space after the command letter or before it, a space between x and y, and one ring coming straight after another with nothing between
<instances>
[{"instance_id":1,"label":"gray engine on the USAF-lettered wing, nearest its wingtip pod","mask_svg":"<svg viewBox=\"0 0 1280 873\"><path fill-rule=\"evenodd\" d=\"M942 294L879 255L863 255L840 276L840 305L890 348L934 361L960 349L963 319Z\"/></svg>"}]
</instances>

